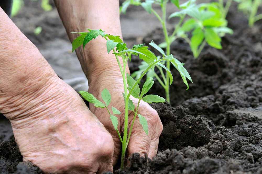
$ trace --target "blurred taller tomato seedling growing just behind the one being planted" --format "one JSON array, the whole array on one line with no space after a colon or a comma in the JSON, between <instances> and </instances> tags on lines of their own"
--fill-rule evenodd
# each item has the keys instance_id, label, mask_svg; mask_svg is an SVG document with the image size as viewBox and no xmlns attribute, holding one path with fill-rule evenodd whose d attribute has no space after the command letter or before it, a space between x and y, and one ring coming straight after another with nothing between
<instances>
[{"instance_id":1,"label":"blurred taller tomato seedling growing just behind the one being planted","mask_svg":"<svg viewBox=\"0 0 262 174\"><path fill-rule=\"evenodd\" d=\"M222 49L221 36L225 33L233 33L230 28L226 27L227 21L224 19L217 5L218 3L203 3L196 5L195 0L189 0L180 4L179 0L171 0L171 3L176 6L179 11L172 13L168 19L179 18L179 22L174 25L174 30L172 34L169 35L166 28L167 3L168 0L145 0L145 2L141 2L141 0L126 0L123 2L121 8L121 12L125 13L129 5L141 5L148 13L154 14L157 17L162 24L165 36L165 42L159 44L159 47L165 48L166 52L164 53L157 49L162 55L169 56L171 43L178 38L183 38L190 45L194 57L197 58L206 43L211 47ZM152 4L161 7L162 16L153 9ZM191 36L191 38L189 36ZM150 43L151 46L152 44L154 43ZM156 44L154 45L156 46ZM139 66L139 71L132 74L132 77L136 77L137 79L137 75L144 70L144 65L145 63L142 63L141 66ZM170 71L170 62L163 62L163 65L166 65L166 68ZM161 66L157 66L157 68L159 69L162 79L153 71L148 75L149 77L155 77L159 81L165 89L166 100L170 102L168 74L163 73L163 68Z\"/></svg>"}]
</instances>

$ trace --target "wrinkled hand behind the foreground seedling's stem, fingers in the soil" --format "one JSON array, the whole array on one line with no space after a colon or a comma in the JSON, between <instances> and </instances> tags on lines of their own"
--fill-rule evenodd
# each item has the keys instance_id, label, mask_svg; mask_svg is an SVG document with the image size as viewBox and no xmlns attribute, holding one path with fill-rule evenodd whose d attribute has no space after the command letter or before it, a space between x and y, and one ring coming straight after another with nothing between
<instances>
[{"instance_id":1,"label":"wrinkled hand behind the foreground seedling's stem, fingers in the soil","mask_svg":"<svg viewBox=\"0 0 262 174\"><path fill-rule=\"evenodd\" d=\"M112 74L100 74L100 77L95 79L96 81L92 80L89 84L89 92L93 94L98 100L103 101L101 98L102 90L104 88L107 88L109 90L112 100L108 108L111 111L111 107L114 106L121 112L120 115L115 116L118 117L119 121L118 130L119 132L121 130L121 133L123 134L125 107L122 95L122 92L124 92L122 77L113 76ZM130 99L133 101L134 105L137 106L138 99L132 96L130 97ZM90 111L97 116L97 118L102 122L102 124L106 127L106 129L113 137L115 145L113 155L114 165L121 155L121 141L119 140L116 130L114 130L108 112L105 108L96 108L93 104L90 104ZM159 136L162 132L163 125L157 112L144 101L140 102L138 113L143 115L143 117L145 117L148 121L148 136L144 132L142 125L139 123L139 118L137 116L133 126L132 134L130 136L130 141L127 148L127 155L130 156L133 153L140 153L141 155L147 154L149 158L153 158L157 153ZM129 112L128 129L130 129L133 118L133 112Z\"/></svg>"}]
</instances>

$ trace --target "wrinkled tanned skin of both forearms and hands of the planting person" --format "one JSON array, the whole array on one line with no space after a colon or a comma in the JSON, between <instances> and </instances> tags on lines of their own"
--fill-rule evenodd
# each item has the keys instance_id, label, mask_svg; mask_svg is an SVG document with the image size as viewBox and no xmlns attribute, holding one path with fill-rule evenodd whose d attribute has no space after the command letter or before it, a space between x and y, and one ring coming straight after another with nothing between
<instances>
[{"instance_id":1,"label":"wrinkled tanned skin of both forearms and hands of the planting person","mask_svg":"<svg viewBox=\"0 0 262 174\"><path fill-rule=\"evenodd\" d=\"M76 35L69 32L86 27L121 36L118 1L55 2L71 41ZM0 112L11 121L23 159L46 173L112 171L121 144L105 109L91 105L90 111L1 8L0 21ZM111 105L124 113L123 82L115 57L107 54L103 38L86 48L77 49L77 55L89 80L89 92L100 99L102 89L108 88ZM149 136L136 120L128 155L138 152L153 157L162 124L147 103L140 103L139 113L148 120ZM129 121L132 117L130 114ZM119 129L122 118L120 115Z\"/></svg>"}]
</instances>

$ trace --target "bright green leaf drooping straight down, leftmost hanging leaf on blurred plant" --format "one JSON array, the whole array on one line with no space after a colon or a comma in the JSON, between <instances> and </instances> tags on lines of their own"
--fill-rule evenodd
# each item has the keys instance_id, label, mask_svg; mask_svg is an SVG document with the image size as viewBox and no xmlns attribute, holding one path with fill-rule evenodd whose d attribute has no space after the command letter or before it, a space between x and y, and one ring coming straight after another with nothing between
<instances>
[{"instance_id":1,"label":"bright green leaf drooping straight down, leftmost hanging leaf on blurred plant","mask_svg":"<svg viewBox=\"0 0 262 174\"><path fill-rule=\"evenodd\" d=\"M197 55L198 47L203 42L203 39L204 39L204 32L200 27L196 28L192 32L191 44L190 44L194 55Z\"/></svg>"}]
</instances>

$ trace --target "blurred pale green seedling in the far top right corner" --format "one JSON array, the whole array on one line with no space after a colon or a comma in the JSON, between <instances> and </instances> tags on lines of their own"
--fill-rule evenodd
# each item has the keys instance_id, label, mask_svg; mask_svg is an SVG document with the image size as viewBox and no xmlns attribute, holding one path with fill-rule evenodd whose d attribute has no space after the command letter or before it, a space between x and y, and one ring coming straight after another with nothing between
<instances>
[{"instance_id":1,"label":"blurred pale green seedling in the far top right corner","mask_svg":"<svg viewBox=\"0 0 262 174\"><path fill-rule=\"evenodd\" d=\"M257 15L258 7L262 0L235 0L239 2L238 9L248 16L248 25L254 26L254 23L262 19L262 14Z\"/></svg>"}]
</instances>

